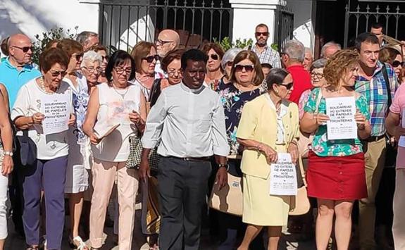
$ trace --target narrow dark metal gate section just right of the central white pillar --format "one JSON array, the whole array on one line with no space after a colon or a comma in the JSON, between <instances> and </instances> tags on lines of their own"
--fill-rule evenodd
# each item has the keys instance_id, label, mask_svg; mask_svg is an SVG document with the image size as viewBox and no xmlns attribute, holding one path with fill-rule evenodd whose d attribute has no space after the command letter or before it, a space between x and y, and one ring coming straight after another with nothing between
<instances>
[{"instance_id":1,"label":"narrow dark metal gate section just right of the central white pillar","mask_svg":"<svg viewBox=\"0 0 405 250\"><path fill-rule=\"evenodd\" d=\"M275 10L274 32L274 42L278 45L278 49L281 49L285 42L293 38L294 13L287 6L278 6Z\"/></svg>"}]
</instances>

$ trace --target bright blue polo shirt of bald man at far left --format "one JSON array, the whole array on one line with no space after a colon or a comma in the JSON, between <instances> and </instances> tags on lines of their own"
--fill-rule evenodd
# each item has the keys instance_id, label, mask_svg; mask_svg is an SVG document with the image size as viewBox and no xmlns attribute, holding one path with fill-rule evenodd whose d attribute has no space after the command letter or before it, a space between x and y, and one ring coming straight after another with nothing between
<instances>
[{"instance_id":1,"label":"bright blue polo shirt of bald man at far left","mask_svg":"<svg viewBox=\"0 0 405 250\"><path fill-rule=\"evenodd\" d=\"M11 65L9 58L0 63L0 83L6 86L8 98L10 99L10 109L13 108L18 90L29 80L39 77L41 72L34 66L26 64L20 71Z\"/></svg>"}]
</instances>

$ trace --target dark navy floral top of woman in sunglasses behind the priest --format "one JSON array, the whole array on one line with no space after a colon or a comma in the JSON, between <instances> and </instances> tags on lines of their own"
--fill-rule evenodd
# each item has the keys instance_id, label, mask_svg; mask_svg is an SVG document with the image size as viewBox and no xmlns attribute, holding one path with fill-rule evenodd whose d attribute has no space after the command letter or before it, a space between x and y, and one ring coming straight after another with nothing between
<instances>
[{"instance_id":1,"label":"dark navy floral top of woman in sunglasses behind the priest","mask_svg":"<svg viewBox=\"0 0 405 250\"><path fill-rule=\"evenodd\" d=\"M248 101L255 99L263 93L260 87L252 91L242 92L235 85L220 85L218 89L220 100L225 111L225 126L230 145L230 155L242 155L242 150L239 149L239 143L236 139L237 126L242 115L242 108Z\"/></svg>"}]
</instances>

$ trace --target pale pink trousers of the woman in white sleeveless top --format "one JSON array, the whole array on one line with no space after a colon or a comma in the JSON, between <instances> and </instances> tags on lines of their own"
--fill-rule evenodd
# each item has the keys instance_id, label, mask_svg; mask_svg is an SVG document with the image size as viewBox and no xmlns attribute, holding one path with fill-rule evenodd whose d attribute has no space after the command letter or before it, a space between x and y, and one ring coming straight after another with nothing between
<instances>
[{"instance_id":1,"label":"pale pink trousers of the woman in white sleeveless top","mask_svg":"<svg viewBox=\"0 0 405 250\"><path fill-rule=\"evenodd\" d=\"M104 220L117 174L118 203L120 204L118 220L119 249L132 249L132 232L134 231L135 224L135 198L139 184L137 170L125 168L125 162L117 163L94 159L92 174L94 188L90 211L90 242L92 247L100 248L103 244Z\"/></svg>"}]
</instances>

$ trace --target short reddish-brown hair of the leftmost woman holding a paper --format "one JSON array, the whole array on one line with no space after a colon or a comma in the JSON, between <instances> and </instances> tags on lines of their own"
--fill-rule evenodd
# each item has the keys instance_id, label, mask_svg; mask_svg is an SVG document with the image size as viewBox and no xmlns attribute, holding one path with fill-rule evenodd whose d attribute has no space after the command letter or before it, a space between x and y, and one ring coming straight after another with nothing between
<instances>
[{"instance_id":1,"label":"short reddish-brown hair of the leftmost woman holding a paper","mask_svg":"<svg viewBox=\"0 0 405 250\"><path fill-rule=\"evenodd\" d=\"M39 55L39 68L47 73L53 65L59 63L61 66L68 68L69 56L65 51L59 48L46 49Z\"/></svg>"}]
</instances>

